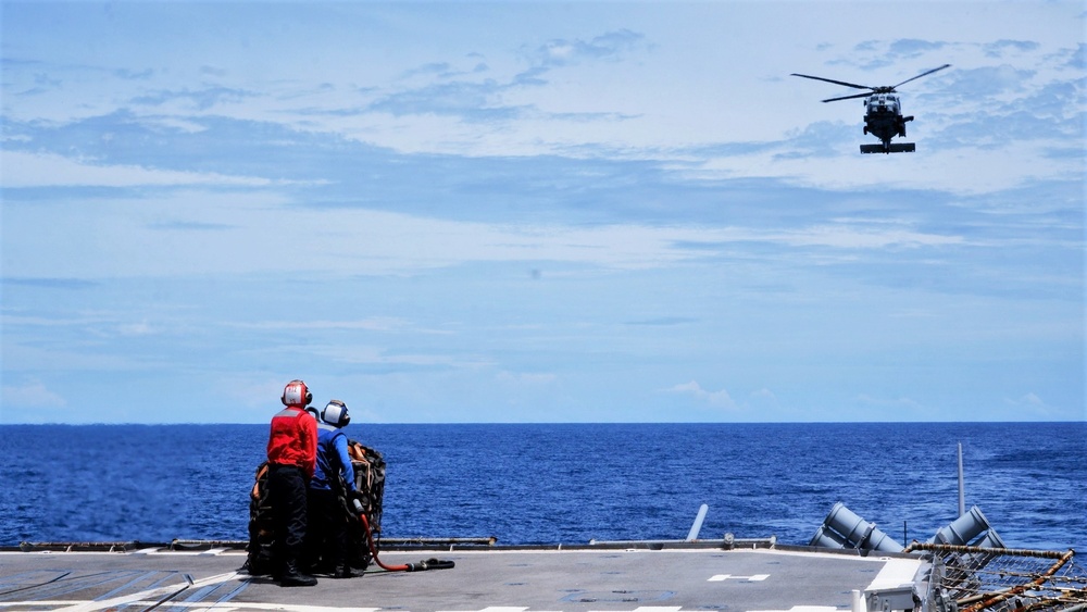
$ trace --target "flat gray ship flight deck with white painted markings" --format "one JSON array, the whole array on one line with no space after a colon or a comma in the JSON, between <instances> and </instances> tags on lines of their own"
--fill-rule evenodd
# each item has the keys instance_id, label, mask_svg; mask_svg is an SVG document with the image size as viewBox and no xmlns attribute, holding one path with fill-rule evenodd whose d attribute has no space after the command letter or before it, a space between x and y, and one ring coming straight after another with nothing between
<instances>
[{"instance_id":1,"label":"flat gray ship flight deck with white painted markings","mask_svg":"<svg viewBox=\"0 0 1087 612\"><path fill-rule=\"evenodd\" d=\"M282 588L239 573L241 551L0 552L4 610L395 610L820 612L851 591L909 582L910 560L775 550L467 550L385 552L457 566ZM879 576L879 580L877 580ZM161 602L161 603L160 603Z\"/></svg>"}]
</instances>

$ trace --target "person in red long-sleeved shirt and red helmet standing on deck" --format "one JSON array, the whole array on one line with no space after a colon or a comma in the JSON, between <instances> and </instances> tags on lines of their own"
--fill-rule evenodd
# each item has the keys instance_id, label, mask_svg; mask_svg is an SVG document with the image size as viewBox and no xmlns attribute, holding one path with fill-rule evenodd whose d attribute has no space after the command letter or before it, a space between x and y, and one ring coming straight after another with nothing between
<instances>
[{"instance_id":1,"label":"person in red long-sleeved shirt and red helmet standing on deck","mask_svg":"<svg viewBox=\"0 0 1087 612\"><path fill-rule=\"evenodd\" d=\"M305 495L317 461L317 422L305 411L313 394L302 380L291 380L280 400L287 408L272 417L267 448L277 576L280 586L313 586L317 579L298 569L305 540Z\"/></svg>"}]
</instances>

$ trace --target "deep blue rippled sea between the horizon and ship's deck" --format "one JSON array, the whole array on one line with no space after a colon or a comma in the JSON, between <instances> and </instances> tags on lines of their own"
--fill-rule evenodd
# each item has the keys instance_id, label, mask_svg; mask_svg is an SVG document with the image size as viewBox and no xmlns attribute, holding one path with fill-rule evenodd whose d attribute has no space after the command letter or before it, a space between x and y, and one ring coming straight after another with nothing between
<instances>
[{"instance_id":1,"label":"deep blue rippled sea between the horizon and ship's deck","mask_svg":"<svg viewBox=\"0 0 1087 612\"><path fill-rule=\"evenodd\" d=\"M776 536L835 502L899 541L966 508L1012 548L1087 551L1087 423L352 424L387 462L385 537ZM0 546L248 538L266 425L0 426Z\"/></svg>"}]
</instances>

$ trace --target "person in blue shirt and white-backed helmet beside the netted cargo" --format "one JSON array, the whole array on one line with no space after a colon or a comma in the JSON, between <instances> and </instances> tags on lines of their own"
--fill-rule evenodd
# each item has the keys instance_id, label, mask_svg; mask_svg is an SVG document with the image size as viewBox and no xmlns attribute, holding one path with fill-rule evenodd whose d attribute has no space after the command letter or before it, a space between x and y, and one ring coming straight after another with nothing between
<instances>
[{"instance_id":1,"label":"person in blue shirt and white-backed helmet beside the netted cargo","mask_svg":"<svg viewBox=\"0 0 1087 612\"><path fill-rule=\"evenodd\" d=\"M317 465L310 479L309 561L315 573L334 578L352 577L348 559L348 514L340 496L355 492L354 469L348 453L343 427L351 422L347 404L329 401L317 425ZM347 490L345 490L345 486Z\"/></svg>"}]
</instances>

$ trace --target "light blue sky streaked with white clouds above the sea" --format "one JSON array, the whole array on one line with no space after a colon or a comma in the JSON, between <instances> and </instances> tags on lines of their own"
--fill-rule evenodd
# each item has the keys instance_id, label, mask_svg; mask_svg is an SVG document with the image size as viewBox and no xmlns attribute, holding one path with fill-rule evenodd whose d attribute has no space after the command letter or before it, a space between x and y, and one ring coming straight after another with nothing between
<instances>
[{"instance_id":1,"label":"light blue sky streaked with white clouds above the sea","mask_svg":"<svg viewBox=\"0 0 1087 612\"><path fill-rule=\"evenodd\" d=\"M2 0L0 424L1087 420L1085 11Z\"/></svg>"}]
</instances>

